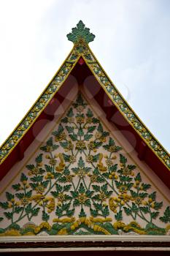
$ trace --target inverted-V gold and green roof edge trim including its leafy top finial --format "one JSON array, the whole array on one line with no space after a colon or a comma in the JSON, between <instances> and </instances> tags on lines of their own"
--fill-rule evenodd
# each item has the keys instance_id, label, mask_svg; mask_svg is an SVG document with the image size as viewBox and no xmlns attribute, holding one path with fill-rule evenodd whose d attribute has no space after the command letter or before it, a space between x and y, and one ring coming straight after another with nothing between
<instances>
[{"instance_id":1,"label":"inverted-V gold and green roof edge trim including its leafy top finial","mask_svg":"<svg viewBox=\"0 0 170 256\"><path fill-rule=\"evenodd\" d=\"M72 48L69 56L63 62L58 72L55 73L50 83L47 85L46 89L42 92L40 97L36 100L34 105L28 110L26 116L20 121L20 124L13 130L11 135L4 141L0 148L0 165L12 152L15 146L18 145L20 140L26 135L28 129L32 127L36 119L42 113L42 111L47 107L50 100L54 97L56 92L61 88L63 82L68 78L70 72L74 68L77 61L82 57L85 63L88 65L89 69L93 73L98 83L107 93L109 99L112 100L116 108L120 111L123 117L128 121L131 127L139 134L144 143L153 151L153 153L158 157L158 159L163 162L170 170L170 156L161 143L156 140L149 129L142 123L139 117L136 115L134 110L128 105L123 96L115 87L112 80L101 67L96 56L94 56L92 50L88 46L88 42L93 41L94 35L90 33L90 30L85 28L85 24L80 22L77 24L77 28L72 29L72 33L67 35L68 39L74 42L74 47Z\"/></svg>"}]
</instances>

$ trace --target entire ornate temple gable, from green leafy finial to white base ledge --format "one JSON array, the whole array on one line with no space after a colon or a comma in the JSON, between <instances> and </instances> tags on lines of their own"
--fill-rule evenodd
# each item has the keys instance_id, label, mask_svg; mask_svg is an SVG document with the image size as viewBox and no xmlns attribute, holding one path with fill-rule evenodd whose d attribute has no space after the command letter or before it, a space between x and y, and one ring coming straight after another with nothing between
<instances>
[{"instance_id":1,"label":"entire ornate temple gable, from green leafy finial to white base ledge","mask_svg":"<svg viewBox=\"0 0 170 256\"><path fill-rule=\"evenodd\" d=\"M80 20L67 37L69 56L0 148L0 252L169 250L169 153L90 50L90 29Z\"/></svg>"}]
</instances>

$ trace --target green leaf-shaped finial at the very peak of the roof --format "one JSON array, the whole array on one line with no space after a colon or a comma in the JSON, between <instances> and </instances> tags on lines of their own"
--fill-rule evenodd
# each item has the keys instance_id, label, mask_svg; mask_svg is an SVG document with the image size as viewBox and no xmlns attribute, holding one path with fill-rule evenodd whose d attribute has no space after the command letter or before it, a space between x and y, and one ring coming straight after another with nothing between
<instances>
[{"instance_id":1,"label":"green leaf-shaped finial at the very peak of the roof","mask_svg":"<svg viewBox=\"0 0 170 256\"><path fill-rule=\"evenodd\" d=\"M69 41L72 41L74 44L78 42L92 42L95 38L95 35L90 33L90 29L85 28L85 24L82 20L77 23L77 27L72 29L72 33L66 35Z\"/></svg>"}]
</instances>

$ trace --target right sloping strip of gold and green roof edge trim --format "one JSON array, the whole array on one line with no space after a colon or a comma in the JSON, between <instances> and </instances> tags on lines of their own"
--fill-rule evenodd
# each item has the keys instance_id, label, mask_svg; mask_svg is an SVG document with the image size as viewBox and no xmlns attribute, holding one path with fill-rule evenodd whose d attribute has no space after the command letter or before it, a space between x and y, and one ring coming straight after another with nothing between
<instances>
[{"instance_id":1,"label":"right sloping strip of gold and green roof edge trim","mask_svg":"<svg viewBox=\"0 0 170 256\"><path fill-rule=\"evenodd\" d=\"M98 83L107 93L109 99L112 100L115 107L122 113L123 117L128 121L128 124L135 129L139 136L144 140L144 143L149 146L149 148L155 153L155 155L163 162L163 164L168 167L170 170L170 157L169 153L161 145L160 142L152 135L149 129L142 123L140 118L136 115L131 106L128 105L128 102L125 101L123 96L120 94L120 91L117 90L115 84L112 83L112 80L106 74L104 69L99 64L96 56L94 56L92 50L88 46L89 53L88 59L84 56L85 63L88 65L89 69L93 73ZM89 55L91 60L89 60ZM87 56L87 54L86 54Z\"/></svg>"}]
</instances>

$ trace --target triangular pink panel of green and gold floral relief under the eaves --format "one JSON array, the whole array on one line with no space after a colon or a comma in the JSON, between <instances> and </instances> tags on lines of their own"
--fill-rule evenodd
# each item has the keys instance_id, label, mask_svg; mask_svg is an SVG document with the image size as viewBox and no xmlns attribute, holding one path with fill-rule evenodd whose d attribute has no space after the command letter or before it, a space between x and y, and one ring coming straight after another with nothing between
<instances>
[{"instance_id":1,"label":"triangular pink panel of green and gold floral relief under the eaves","mask_svg":"<svg viewBox=\"0 0 170 256\"><path fill-rule=\"evenodd\" d=\"M39 150L0 202L0 236L169 232L169 206L81 94Z\"/></svg>"}]
</instances>

